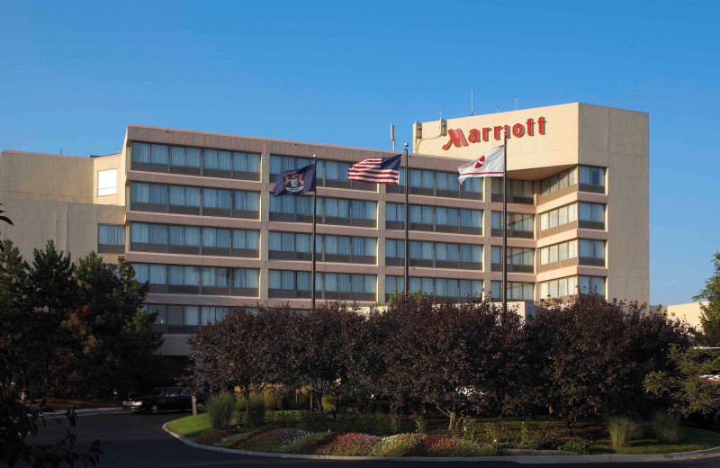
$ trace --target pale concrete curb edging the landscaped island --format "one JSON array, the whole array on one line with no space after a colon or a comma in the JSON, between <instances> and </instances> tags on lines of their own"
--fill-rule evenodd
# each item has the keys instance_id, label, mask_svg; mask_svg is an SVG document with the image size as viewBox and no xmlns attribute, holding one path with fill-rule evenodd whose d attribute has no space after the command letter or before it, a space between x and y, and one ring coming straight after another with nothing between
<instances>
[{"instance_id":1,"label":"pale concrete curb edging the landscaped island","mask_svg":"<svg viewBox=\"0 0 720 468\"><path fill-rule=\"evenodd\" d=\"M202 446L187 437L176 434L163 424L163 430L182 442L185 446L201 448L211 452L236 454L246 456L262 456L266 458L296 458L301 460L365 460L390 462L514 462L516 464L611 464L633 462L672 462L720 456L720 447L696 450L694 452L678 452L675 454L648 454L648 455L515 455L515 456L338 456L338 455L299 455L299 454L272 454L269 452L250 452L234 448L221 448Z\"/></svg>"}]
</instances>

